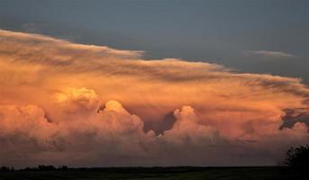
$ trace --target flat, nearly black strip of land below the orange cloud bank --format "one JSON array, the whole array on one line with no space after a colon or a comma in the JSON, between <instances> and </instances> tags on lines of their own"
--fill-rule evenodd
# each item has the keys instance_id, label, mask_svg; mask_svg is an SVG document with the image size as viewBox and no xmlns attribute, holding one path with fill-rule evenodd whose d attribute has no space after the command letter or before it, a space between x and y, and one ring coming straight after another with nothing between
<instances>
[{"instance_id":1,"label":"flat, nearly black strip of land below the orange cloud bank","mask_svg":"<svg viewBox=\"0 0 309 180\"><path fill-rule=\"evenodd\" d=\"M284 166L265 167L106 167L0 172L1 180L40 179L309 179Z\"/></svg>"}]
</instances>

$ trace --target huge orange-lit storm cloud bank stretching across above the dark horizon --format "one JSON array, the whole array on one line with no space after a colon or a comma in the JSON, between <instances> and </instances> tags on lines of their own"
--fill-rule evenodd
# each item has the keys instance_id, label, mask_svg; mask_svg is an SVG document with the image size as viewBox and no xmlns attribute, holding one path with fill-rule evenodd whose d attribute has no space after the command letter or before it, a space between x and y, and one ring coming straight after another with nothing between
<instances>
[{"instance_id":1,"label":"huge orange-lit storm cloud bank stretching across above the dark horizon","mask_svg":"<svg viewBox=\"0 0 309 180\"><path fill-rule=\"evenodd\" d=\"M273 165L309 140L301 79L14 31L0 42L0 166Z\"/></svg>"}]
</instances>

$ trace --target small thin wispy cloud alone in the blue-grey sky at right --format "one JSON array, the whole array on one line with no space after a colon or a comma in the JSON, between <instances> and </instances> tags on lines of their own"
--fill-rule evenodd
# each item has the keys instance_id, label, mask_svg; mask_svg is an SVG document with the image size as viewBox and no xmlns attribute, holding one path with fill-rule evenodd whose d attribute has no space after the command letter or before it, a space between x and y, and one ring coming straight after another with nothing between
<instances>
[{"instance_id":1,"label":"small thin wispy cloud alone in the blue-grey sky at right","mask_svg":"<svg viewBox=\"0 0 309 180\"><path fill-rule=\"evenodd\" d=\"M259 58L295 58L295 55L282 51L270 50L245 50L245 55L255 56Z\"/></svg>"}]
</instances>

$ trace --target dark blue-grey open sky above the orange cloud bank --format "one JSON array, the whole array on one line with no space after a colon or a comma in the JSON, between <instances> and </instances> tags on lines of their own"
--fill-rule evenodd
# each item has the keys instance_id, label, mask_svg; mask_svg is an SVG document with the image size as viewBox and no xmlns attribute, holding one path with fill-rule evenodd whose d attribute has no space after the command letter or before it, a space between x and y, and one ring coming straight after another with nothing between
<instances>
[{"instance_id":1,"label":"dark blue-grey open sky above the orange cloud bank","mask_svg":"<svg viewBox=\"0 0 309 180\"><path fill-rule=\"evenodd\" d=\"M309 0L0 0L0 29L302 77L309 85Z\"/></svg>"}]
</instances>

